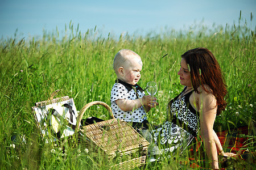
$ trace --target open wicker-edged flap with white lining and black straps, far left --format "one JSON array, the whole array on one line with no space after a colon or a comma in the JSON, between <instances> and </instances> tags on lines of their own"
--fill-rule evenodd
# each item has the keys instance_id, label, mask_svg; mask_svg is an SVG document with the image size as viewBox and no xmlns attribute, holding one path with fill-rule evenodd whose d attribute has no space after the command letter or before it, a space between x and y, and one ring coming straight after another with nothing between
<instances>
[{"instance_id":1,"label":"open wicker-edged flap with white lining and black straps, far left","mask_svg":"<svg viewBox=\"0 0 256 170\"><path fill-rule=\"evenodd\" d=\"M41 101L32 110L43 138L51 134L56 140L75 133L78 113L73 98L65 96Z\"/></svg>"}]
</instances>

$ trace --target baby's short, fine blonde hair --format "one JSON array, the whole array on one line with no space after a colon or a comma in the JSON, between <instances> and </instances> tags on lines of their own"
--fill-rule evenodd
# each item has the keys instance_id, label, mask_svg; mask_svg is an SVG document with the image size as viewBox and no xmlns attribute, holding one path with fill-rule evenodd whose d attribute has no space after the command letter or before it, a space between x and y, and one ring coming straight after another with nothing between
<instances>
[{"instance_id":1,"label":"baby's short, fine blonde hair","mask_svg":"<svg viewBox=\"0 0 256 170\"><path fill-rule=\"evenodd\" d=\"M115 74L118 75L118 69L119 67L123 67L126 64L127 59L130 58L139 58L141 57L129 49L121 49L117 54L115 54L114 62L113 62L113 69L115 70Z\"/></svg>"}]
</instances>

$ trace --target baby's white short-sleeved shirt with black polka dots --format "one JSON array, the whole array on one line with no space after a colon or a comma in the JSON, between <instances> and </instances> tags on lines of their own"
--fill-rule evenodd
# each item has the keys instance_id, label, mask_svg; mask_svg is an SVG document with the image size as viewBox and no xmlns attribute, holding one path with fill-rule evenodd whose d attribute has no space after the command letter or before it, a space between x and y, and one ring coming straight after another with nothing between
<instances>
[{"instance_id":1,"label":"baby's white short-sleeved shirt with black polka dots","mask_svg":"<svg viewBox=\"0 0 256 170\"><path fill-rule=\"evenodd\" d=\"M127 87L129 85L130 87ZM115 100L118 99L135 100L138 99L138 97L142 98L145 95L144 91L137 90L137 96L131 86L131 84L123 83L121 81L114 84L110 98L112 112L115 118L122 119L126 122L143 122L147 119L146 112L144 111L143 107L140 107L134 111L125 112L118 107L117 103L115 103Z\"/></svg>"}]
</instances>

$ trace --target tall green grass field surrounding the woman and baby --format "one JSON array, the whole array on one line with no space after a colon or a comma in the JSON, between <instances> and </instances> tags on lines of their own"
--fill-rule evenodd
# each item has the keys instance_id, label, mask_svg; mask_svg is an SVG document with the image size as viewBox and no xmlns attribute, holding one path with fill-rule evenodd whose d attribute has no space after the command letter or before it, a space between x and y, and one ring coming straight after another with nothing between
<instances>
[{"instance_id":1,"label":"tall green grass field surrounding the woman and baby","mask_svg":"<svg viewBox=\"0 0 256 170\"><path fill-rule=\"evenodd\" d=\"M217 58L228 85L228 106L217 116L214 130L220 131L255 125L256 28L239 21L238 25L192 25L187 31L164 29L146 36L123 34L119 37L102 35L97 27L80 31L70 23L65 36L59 31L44 32L42 38L14 37L0 42L0 163L1 169L108 169L103 158L93 159L90 153L65 145L44 143L36 129L31 107L47 100L55 90L56 97L69 96L77 110L90 101L110 105L110 91L115 81L113 58L120 49L137 52L143 61L139 85L158 83L159 106L151 109L148 120L161 124L166 120L166 106L183 89L177 71L181 54L199 46L208 48ZM107 120L104 107L88 109L84 117ZM255 131L254 131L255 134ZM24 135L26 142L11 137ZM255 153L255 136L249 151ZM179 155L176 155L179 156ZM179 158L186 160L186 158ZM187 169L175 156L158 164L146 164L146 169ZM254 158L255 160L255 158ZM170 163L171 162L171 163ZM209 165L201 166L209 168ZM253 168L254 164L237 161L234 167Z\"/></svg>"}]
</instances>

